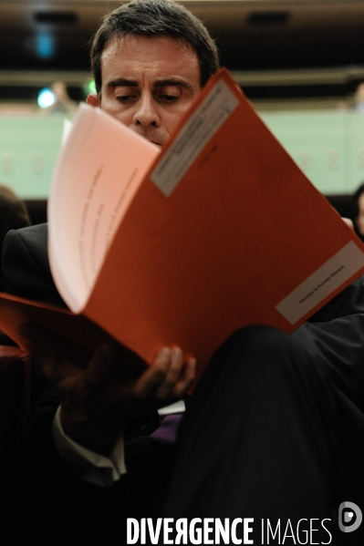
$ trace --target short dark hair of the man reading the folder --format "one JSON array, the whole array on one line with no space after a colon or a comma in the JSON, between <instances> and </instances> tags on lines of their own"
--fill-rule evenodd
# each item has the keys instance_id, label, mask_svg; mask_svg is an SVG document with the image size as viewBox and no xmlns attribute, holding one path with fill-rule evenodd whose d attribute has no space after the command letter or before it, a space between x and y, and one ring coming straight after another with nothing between
<instances>
[{"instance_id":1,"label":"short dark hair of the man reading the folder","mask_svg":"<svg viewBox=\"0 0 364 546\"><path fill-rule=\"evenodd\" d=\"M117 36L170 36L196 52L201 86L219 67L217 47L203 23L182 5L170 0L133 0L106 15L91 44L90 60L96 90L101 90L101 55Z\"/></svg>"}]
</instances>

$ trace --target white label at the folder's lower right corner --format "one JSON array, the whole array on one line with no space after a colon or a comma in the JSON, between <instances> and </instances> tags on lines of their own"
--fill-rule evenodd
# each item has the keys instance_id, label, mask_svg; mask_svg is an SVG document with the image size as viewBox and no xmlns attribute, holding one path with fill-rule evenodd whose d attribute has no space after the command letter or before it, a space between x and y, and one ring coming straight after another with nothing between
<instances>
[{"instance_id":1,"label":"white label at the folder's lower right corner","mask_svg":"<svg viewBox=\"0 0 364 546\"><path fill-rule=\"evenodd\" d=\"M364 253L355 242L348 242L277 304L276 310L294 325L363 266Z\"/></svg>"}]
</instances>

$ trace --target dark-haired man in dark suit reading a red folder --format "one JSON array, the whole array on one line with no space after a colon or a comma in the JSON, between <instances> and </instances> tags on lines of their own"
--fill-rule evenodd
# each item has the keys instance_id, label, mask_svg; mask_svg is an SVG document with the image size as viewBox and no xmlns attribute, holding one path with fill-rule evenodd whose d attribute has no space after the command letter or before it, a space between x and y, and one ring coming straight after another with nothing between
<instances>
[{"instance_id":1,"label":"dark-haired man in dark suit reading a red folder","mask_svg":"<svg viewBox=\"0 0 364 546\"><path fill-rule=\"evenodd\" d=\"M88 104L160 146L219 66L204 26L168 0L108 15L91 62L97 93ZM63 304L46 224L10 232L3 263L7 292ZM135 376L119 346L99 347L83 369L47 331L27 326L23 335L50 382L41 380L20 480L19 518L38 544L125 543L127 518L161 515L252 518L254 543L268 543L267 520L274 529L279 520L290 543L302 521L311 543L360 543L361 528L340 531L338 514L345 501L364 510L361 279L292 335L255 325L232 333L187 400L177 454L164 434L175 409L161 420L157 408L186 396L192 357L164 347Z\"/></svg>"}]
</instances>

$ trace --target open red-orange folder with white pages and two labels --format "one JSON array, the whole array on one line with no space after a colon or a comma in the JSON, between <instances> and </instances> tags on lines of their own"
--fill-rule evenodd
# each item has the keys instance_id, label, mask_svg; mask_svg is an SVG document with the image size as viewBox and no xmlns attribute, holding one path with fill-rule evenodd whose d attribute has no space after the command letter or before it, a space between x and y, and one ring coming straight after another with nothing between
<instances>
[{"instance_id":1,"label":"open red-orange folder with white pages and two labels","mask_svg":"<svg viewBox=\"0 0 364 546\"><path fill-rule=\"evenodd\" d=\"M2 295L0 328L36 321L89 354L111 336L199 373L237 328L293 331L364 271L364 246L223 68L164 149L81 105L48 200L49 261L70 312ZM67 347L67 349L66 349Z\"/></svg>"}]
</instances>

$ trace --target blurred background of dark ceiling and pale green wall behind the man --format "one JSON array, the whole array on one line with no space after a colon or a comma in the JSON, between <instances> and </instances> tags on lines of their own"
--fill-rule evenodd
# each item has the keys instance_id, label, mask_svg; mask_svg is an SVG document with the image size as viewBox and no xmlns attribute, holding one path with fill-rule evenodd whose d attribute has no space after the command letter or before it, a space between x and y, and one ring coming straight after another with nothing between
<instances>
[{"instance_id":1,"label":"blurred background of dark ceiling and pale green wall behind the man","mask_svg":"<svg viewBox=\"0 0 364 546\"><path fill-rule=\"evenodd\" d=\"M63 119L93 89L88 41L122 3L0 0L0 180L34 205L47 200ZM364 1L181 3L307 177L353 216L364 180Z\"/></svg>"}]
</instances>

